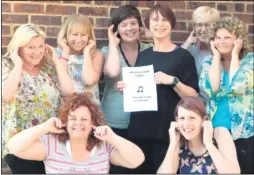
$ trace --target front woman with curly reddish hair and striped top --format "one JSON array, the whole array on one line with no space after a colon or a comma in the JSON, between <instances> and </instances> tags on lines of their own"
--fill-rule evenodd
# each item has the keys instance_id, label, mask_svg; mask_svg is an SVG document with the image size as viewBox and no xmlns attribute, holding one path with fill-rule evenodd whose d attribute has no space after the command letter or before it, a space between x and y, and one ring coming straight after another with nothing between
<instances>
[{"instance_id":1,"label":"front woman with curly reddish hair and striped top","mask_svg":"<svg viewBox=\"0 0 254 175\"><path fill-rule=\"evenodd\" d=\"M10 152L43 160L47 174L107 174L109 163L139 166L144 161L141 149L105 125L92 98L86 93L68 96L57 117L15 135L8 143Z\"/></svg>"}]
</instances>

